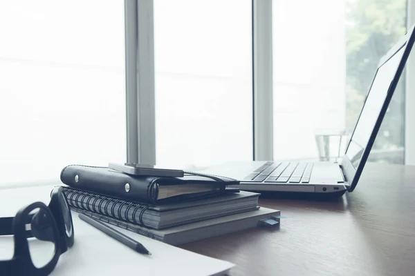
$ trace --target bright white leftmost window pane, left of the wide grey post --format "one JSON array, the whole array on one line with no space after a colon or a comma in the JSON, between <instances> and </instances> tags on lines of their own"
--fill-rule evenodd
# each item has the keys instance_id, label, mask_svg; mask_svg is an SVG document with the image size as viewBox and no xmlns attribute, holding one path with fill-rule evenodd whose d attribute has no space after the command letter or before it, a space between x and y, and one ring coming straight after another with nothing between
<instances>
[{"instance_id":1,"label":"bright white leftmost window pane, left of the wide grey post","mask_svg":"<svg viewBox=\"0 0 415 276\"><path fill-rule=\"evenodd\" d=\"M122 1L1 1L0 37L0 184L125 160Z\"/></svg>"}]
</instances>

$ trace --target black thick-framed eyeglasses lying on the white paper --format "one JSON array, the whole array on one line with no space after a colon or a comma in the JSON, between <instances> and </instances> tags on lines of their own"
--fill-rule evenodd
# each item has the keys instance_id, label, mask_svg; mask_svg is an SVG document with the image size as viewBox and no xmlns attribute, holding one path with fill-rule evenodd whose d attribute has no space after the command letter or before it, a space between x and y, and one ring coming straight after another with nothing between
<instances>
[{"instance_id":1,"label":"black thick-framed eyeglasses lying on the white paper","mask_svg":"<svg viewBox=\"0 0 415 276\"><path fill-rule=\"evenodd\" d=\"M42 276L52 272L62 253L73 246L71 210L62 187L50 193L50 204L35 202L15 217L0 218L0 235L14 235L15 254L0 261L0 275Z\"/></svg>"}]
</instances>

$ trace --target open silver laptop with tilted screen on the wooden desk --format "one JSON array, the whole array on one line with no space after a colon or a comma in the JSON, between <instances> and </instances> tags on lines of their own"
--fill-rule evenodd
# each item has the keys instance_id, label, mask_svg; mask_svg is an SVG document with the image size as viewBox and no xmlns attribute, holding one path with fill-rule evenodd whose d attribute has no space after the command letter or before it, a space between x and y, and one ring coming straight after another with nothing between
<instances>
[{"instance_id":1,"label":"open silver laptop with tilted screen on the wooden desk","mask_svg":"<svg viewBox=\"0 0 415 276\"><path fill-rule=\"evenodd\" d=\"M241 190L305 193L323 197L352 192L385 117L414 44L414 26L384 55L349 139L341 163L335 161L248 161L225 163L202 172L239 179Z\"/></svg>"}]
</instances>

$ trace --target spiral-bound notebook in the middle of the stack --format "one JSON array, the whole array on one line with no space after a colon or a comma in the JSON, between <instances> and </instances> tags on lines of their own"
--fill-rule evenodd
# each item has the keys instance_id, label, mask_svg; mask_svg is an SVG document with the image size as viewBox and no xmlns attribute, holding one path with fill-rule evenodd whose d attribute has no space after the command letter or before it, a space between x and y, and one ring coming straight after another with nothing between
<instances>
[{"instance_id":1,"label":"spiral-bound notebook in the middle of the stack","mask_svg":"<svg viewBox=\"0 0 415 276\"><path fill-rule=\"evenodd\" d=\"M259 193L240 191L176 204L149 205L64 186L71 208L146 228L163 229L256 210Z\"/></svg>"}]
</instances>

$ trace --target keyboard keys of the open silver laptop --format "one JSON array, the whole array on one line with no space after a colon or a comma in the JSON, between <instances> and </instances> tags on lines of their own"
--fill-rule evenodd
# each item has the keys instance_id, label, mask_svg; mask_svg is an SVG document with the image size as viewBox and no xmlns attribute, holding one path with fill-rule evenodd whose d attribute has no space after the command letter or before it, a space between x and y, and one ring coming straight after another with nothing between
<instances>
[{"instance_id":1,"label":"keyboard keys of the open silver laptop","mask_svg":"<svg viewBox=\"0 0 415 276\"><path fill-rule=\"evenodd\" d=\"M269 161L251 172L243 182L307 184L312 171L313 163Z\"/></svg>"}]
</instances>

